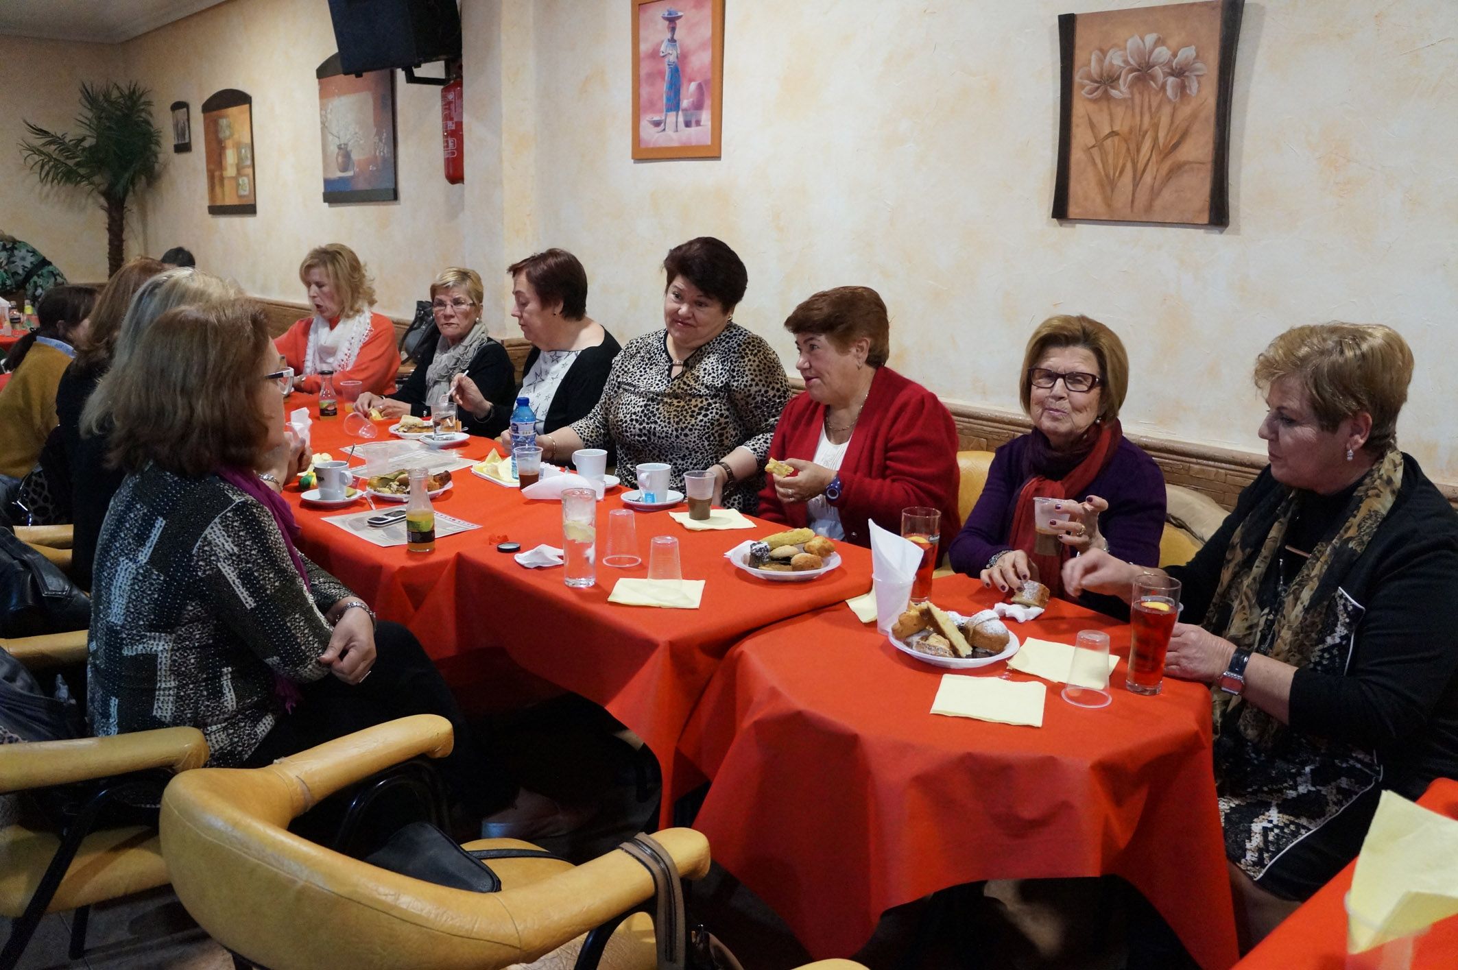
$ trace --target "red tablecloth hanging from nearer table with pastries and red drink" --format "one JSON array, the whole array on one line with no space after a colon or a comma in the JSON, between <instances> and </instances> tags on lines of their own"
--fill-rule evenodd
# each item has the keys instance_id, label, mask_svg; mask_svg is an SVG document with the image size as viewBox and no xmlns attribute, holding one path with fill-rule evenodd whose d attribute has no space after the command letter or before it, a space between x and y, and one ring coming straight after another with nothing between
<instances>
[{"instance_id":1,"label":"red tablecloth hanging from nearer table with pastries and red drink","mask_svg":"<svg viewBox=\"0 0 1458 970\"><path fill-rule=\"evenodd\" d=\"M949 577L933 602L975 612L993 597ZM1127 654L1127 625L1069 603L1015 625L1064 642L1086 628ZM844 606L741 642L679 741L713 779L694 826L714 859L816 957L854 953L882 912L959 883L1118 874L1201 966L1233 964L1209 690L1166 680L1136 696L1120 663L1110 706L1072 706L1048 685L1044 724L1028 728L929 714L943 673Z\"/></svg>"}]
</instances>

